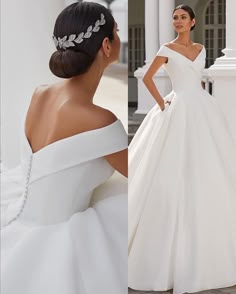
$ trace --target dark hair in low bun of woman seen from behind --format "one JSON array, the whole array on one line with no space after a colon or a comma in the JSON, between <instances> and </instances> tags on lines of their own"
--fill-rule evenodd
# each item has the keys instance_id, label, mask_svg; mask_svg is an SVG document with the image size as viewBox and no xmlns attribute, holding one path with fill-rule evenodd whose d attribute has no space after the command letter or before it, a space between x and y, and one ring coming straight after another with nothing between
<instances>
[{"instance_id":1,"label":"dark hair in low bun of woman seen from behind","mask_svg":"<svg viewBox=\"0 0 236 294\"><path fill-rule=\"evenodd\" d=\"M71 78L85 73L102 46L104 38L110 41L114 39L113 29L115 20L111 12L101 4L94 2L78 2L66 7L57 17L53 35L55 38L63 38L81 32L87 32L89 26L95 25L97 20L104 15L105 24L100 26L98 32L83 39L83 42L66 49L57 46L49 61L50 70L60 78Z\"/></svg>"}]
</instances>

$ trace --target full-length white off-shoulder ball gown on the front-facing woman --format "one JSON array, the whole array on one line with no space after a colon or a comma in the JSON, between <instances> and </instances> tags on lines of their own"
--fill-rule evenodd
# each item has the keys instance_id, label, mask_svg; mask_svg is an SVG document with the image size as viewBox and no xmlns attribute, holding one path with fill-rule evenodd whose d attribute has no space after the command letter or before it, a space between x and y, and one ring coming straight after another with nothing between
<instances>
[{"instance_id":1,"label":"full-length white off-shoulder ball gown on the front-facing woman","mask_svg":"<svg viewBox=\"0 0 236 294\"><path fill-rule=\"evenodd\" d=\"M129 150L129 287L174 294L236 284L236 144L194 61L163 45L171 100Z\"/></svg>"}]
</instances>

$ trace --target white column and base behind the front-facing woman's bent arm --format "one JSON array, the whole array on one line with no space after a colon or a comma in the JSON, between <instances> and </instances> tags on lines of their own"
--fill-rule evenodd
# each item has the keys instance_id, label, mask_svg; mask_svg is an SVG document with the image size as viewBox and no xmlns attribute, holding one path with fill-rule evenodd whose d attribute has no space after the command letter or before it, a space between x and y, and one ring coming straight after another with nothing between
<instances>
[{"instance_id":1,"label":"white column and base behind the front-facing woman's bent arm","mask_svg":"<svg viewBox=\"0 0 236 294\"><path fill-rule=\"evenodd\" d=\"M160 45L174 38L172 28L172 11L174 0L145 1L145 49L146 65L135 72L138 79L138 109L136 117L145 115L154 105L155 100L143 84L143 76L155 57ZM160 69L154 77L159 92L164 97L171 90L171 83L164 69Z\"/></svg>"}]
</instances>

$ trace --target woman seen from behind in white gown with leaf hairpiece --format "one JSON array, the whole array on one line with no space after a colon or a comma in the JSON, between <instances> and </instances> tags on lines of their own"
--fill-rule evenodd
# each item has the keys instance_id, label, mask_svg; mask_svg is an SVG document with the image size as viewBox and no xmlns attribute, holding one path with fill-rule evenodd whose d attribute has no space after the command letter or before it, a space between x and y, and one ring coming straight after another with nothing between
<instances>
[{"instance_id":1,"label":"woman seen from behind in white gown with leaf hairpiece","mask_svg":"<svg viewBox=\"0 0 236 294\"><path fill-rule=\"evenodd\" d=\"M106 198L89 207L114 170L127 176L127 134L93 104L104 69L119 56L117 30L110 11L92 2L72 4L56 20L50 69L64 80L35 90L21 165L1 176L2 294L127 292L122 176L123 190L119 182L103 186Z\"/></svg>"}]
</instances>

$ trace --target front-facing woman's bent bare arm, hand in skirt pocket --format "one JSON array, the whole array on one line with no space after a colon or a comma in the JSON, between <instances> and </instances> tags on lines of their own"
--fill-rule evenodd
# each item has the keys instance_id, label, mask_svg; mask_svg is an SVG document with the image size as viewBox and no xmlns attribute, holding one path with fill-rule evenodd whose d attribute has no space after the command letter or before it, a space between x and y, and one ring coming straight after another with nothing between
<instances>
[{"instance_id":1,"label":"front-facing woman's bent bare arm, hand in skirt pocket","mask_svg":"<svg viewBox=\"0 0 236 294\"><path fill-rule=\"evenodd\" d=\"M156 102L159 104L162 111L165 109L165 102L161 97L159 91L157 90L157 87L153 81L153 76L158 71L158 69L167 61L167 57L156 56L156 58L153 60L152 64L150 65L149 69L147 70L143 78L145 86L147 87L148 91L152 94Z\"/></svg>"}]
</instances>

